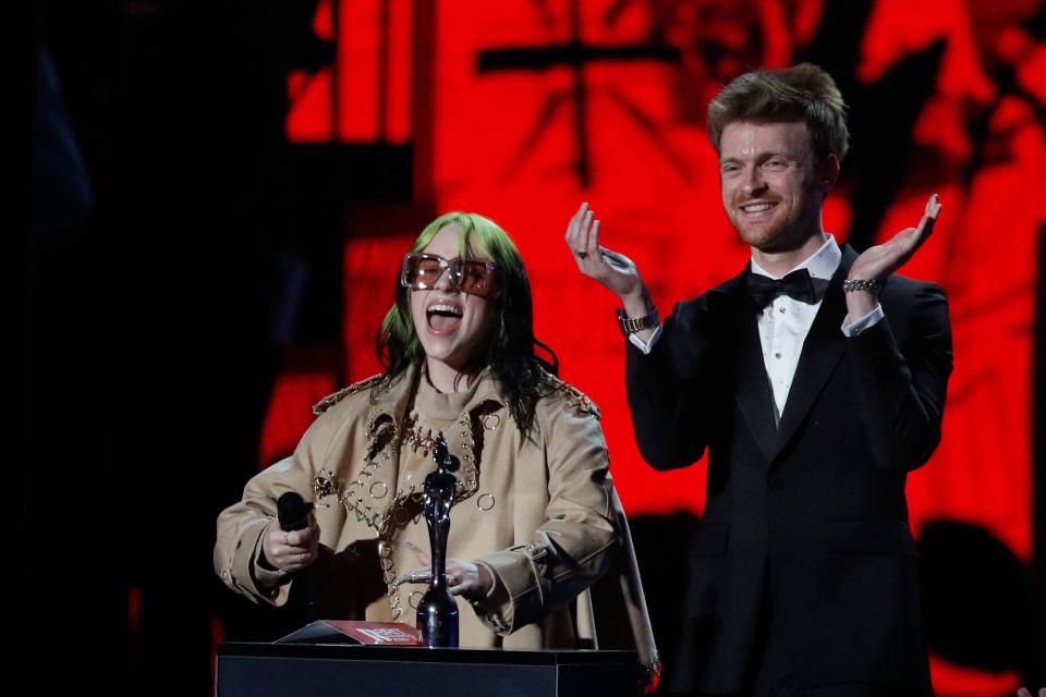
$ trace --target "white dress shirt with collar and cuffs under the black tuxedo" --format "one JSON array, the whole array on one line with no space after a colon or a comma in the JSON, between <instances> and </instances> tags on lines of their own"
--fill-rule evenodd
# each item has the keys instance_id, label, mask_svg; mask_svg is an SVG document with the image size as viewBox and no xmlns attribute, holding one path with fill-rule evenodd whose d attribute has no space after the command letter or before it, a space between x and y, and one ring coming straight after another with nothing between
<instances>
[{"instance_id":1,"label":"white dress shirt with collar and cuffs under the black tuxedo","mask_svg":"<svg viewBox=\"0 0 1046 697\"><path fill-rule=\"evenodd\" d=\"M839 268L840 261L842 261L842 250L836 244L836 239L825 233L825 243L820 248L794 269L789 270L791 272L806 269L810 272L817 302L807 304L788 295L778 295L759 313L759 343L763 345L763 364L766 366L766 375L774 390L776 421L780 420L784 412L784 403L788 401L788 392L795 377L795 367L803 351L803 342L806 341L806 334L814 325L825 291L828 290L828 282ZM763 269L755 259L752 259L751 264L753 273L778 278ZM848 322L849 317L846 317L842 321L842 333L847 337L856 337L868 327L876 325L883 316L883 306L876 304L875 309L854 322ZM629 341L646 354L650 352L660 335L661 328L658 326L654 329L648 342L643 342L635 334L629 334Z\"/></svg>"}]
</instances>

